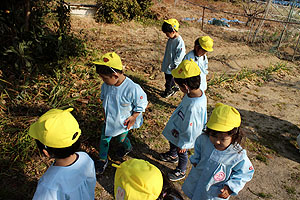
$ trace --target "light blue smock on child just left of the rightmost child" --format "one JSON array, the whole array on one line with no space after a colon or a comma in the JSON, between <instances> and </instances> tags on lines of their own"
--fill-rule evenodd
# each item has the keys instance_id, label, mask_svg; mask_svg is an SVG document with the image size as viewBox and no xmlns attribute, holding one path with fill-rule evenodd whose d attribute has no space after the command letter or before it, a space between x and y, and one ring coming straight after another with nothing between
<instances>
[{"instance_id":1,"label":"light blue smock on child just left of the rightmost child","mask_svg":"<svg viewBox=\"0 0 300 200\"><path fill-rule=\"evenodd\" d=\"M180 149L191 149L194 147L196 138L202 133L206 120L207 99L205 94L202 93L201 97L195 98L185 95L162 134ZM174 129L179 134L176 134Z\"/></svg>"}]
</instances>

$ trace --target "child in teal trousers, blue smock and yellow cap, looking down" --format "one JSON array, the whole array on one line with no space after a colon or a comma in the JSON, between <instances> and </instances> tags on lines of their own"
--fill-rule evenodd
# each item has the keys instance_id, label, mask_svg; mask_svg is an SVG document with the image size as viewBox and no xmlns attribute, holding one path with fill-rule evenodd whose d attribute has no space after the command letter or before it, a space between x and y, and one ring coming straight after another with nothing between
<instances>
[{"instance_id":1,"label":"child in teal trousers, blue smock and yellow cap, looking down","mask_svg":"<svg viewBox=\"0 0 300 200\"><path fill-rule=\"evenodd\" d=\"M121 58L115 52L104 54L94 64L104 81L100 99L105 126L101 134L100 159L96 163L97 173L102 174L108 163L107 154L112 137L116 137L123 146L117 152L120 158L132 151L127 134L130 129L142 125L142 112L145 112L148 101L143 89L123 74Z\"/></svg>"}]
</instances>

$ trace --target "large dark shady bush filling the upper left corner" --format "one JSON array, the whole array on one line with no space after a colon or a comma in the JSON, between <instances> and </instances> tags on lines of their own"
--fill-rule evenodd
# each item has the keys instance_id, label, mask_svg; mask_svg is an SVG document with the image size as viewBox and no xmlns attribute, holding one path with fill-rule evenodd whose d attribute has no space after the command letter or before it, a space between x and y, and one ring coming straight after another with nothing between
<instances>
[{"instance_id":1,"label":"large dark shady bush filling the upper left corner","mask_svg":"<svg viewBox=\"0 0 300 200\"><path fill-rule=\"evenodd\" d=\"M84 52L81 41L70 34L70 8L63 0L10 0L1 7L0 72L4 78L52 73L69 56Z\"/></svg>"}]
</instances>

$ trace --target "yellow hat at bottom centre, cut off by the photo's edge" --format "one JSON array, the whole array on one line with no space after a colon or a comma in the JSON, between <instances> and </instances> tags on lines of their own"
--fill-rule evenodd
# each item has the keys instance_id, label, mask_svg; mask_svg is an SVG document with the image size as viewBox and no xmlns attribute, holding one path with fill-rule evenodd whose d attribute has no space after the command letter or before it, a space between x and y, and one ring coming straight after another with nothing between
<instances>
[{"instance_id":1,"label":"yellow hat at bottom centre, cut off by the photo's edge","mask_svg":"<svg viewBox=\"0 0 300 200\"><path fill-rule=\"evenodd\" d=\"M163 187L161 171L141 159L131 159L117 167L114 194L116 200L155 200Z\"/></svg>"}]
</instances>

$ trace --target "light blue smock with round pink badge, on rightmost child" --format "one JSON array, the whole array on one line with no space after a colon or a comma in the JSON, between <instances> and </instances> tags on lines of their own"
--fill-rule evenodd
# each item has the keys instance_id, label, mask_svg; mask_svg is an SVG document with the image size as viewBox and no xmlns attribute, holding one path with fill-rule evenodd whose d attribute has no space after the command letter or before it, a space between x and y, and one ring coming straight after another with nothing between
<instances>
[{"instance_id":1,"label":"light blue smock with round pink badge, on rightmost child","mask_svg":"<svg viewBox=\"0 0 300 200\"><path fill-rule=\"evenodd\" d=\"M219 151L209 137L202 134L197 138L194 150L190 161L197 166L192 167L182 185L183 192L190 199L221 200L218 195L224 185L232 190L232 195L237 195L252 179L254 168L241 146L231 144L224 151Z\"/></svg>"}]
</instances>

